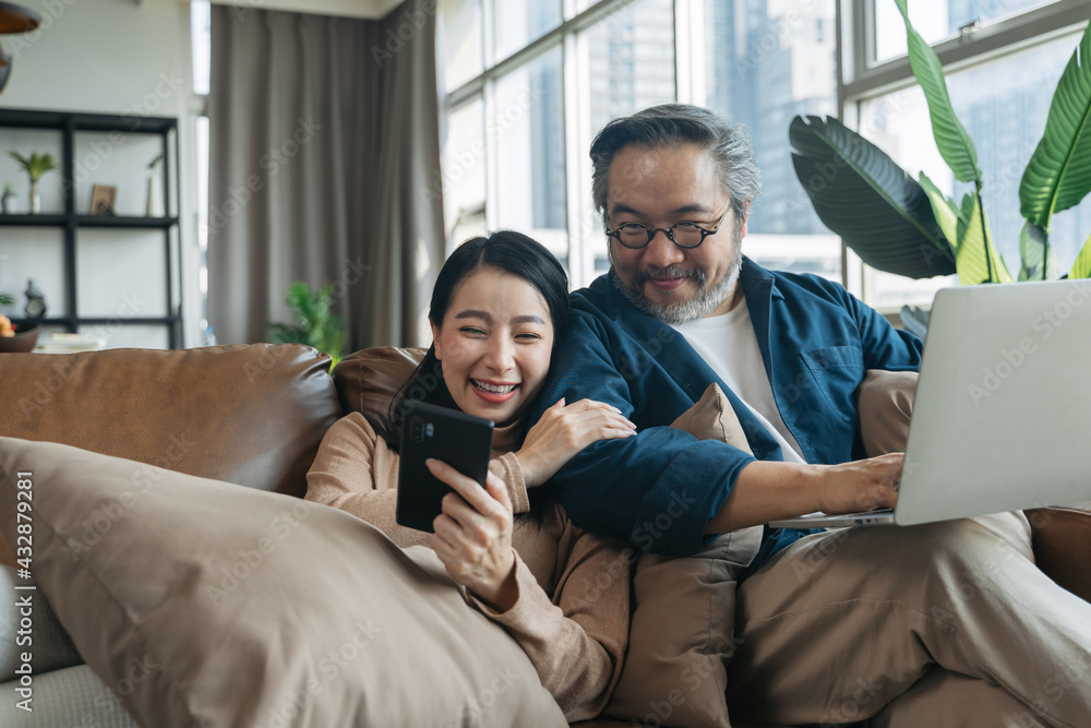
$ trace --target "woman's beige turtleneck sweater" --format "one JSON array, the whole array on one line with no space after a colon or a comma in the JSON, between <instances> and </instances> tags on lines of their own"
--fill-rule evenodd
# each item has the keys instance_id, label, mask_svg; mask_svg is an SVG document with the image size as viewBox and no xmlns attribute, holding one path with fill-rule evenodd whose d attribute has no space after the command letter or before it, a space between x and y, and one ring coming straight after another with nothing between
<instances>
[{"instance_id":1,"label":"woman's beige turtleneck sweater","mask_svg":"<svg viewBox=\"0 0 1091 728\"><path fill-rule=\"evenodd\" d=\"M507 485L515 512L525 513L529 500L511 452L513 430L495 431L490 469ZM307 500L348 511L403 548L428 546L429 534L394 520L397 482L398 454L352 413L322 440L307 474ZM595 717L621 677L635 554L620 541L578 528L560 505L548 509L541 527L516 518L512 544L519 587L515 606L496 612L473 602L518 641L570 721Z\"/></svg>"}]
</instances>

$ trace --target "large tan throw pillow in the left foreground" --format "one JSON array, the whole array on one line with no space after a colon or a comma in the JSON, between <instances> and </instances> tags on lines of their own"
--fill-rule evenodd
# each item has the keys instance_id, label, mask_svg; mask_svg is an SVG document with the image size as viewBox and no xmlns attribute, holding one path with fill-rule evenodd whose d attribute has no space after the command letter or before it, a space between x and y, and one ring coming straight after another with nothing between
<instances>
[{"instance_id":1,"label":"large tan throw pillow in the left foreground","mask_svg":"<svg viewBox=\"0 0 1091 728\"><path fill-rule=\"evenodd\" d=\"M0 478L0 527L33 540L19 596L143 726L566 725L434 557L343 511L8 438Z\"/></svg>"}]
</instances>

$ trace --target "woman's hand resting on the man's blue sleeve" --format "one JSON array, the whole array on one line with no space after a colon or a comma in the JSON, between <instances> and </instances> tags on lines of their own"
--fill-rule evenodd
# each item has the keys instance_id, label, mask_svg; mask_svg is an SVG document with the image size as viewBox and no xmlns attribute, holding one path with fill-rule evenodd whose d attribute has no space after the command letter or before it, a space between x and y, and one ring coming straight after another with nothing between
<instances>
[{"instance_id":1,"label":"woman's hand resting on the man's blue sleeve","mask_svg":"<svg viewBox=\"0 0 1091 728\"><path fill-rule=\"evenodd\" d=\"M542 413L542 418L527 432L515 453L523 467L527 488L543 485L579 451L599 440L630 438L636 425L621 410L594 399L580 399L565 406L564 398Z\"/></svg>"}]
</instances>

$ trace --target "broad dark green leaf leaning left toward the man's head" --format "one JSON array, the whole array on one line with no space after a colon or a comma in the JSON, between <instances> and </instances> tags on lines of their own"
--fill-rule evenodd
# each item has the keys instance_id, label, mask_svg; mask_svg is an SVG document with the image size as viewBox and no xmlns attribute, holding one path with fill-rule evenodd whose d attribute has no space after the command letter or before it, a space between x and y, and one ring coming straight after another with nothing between
<instances>
[{"instance_id":1,"label":"broad dark green leaf leaning left toward the man's head","mask_svg":"<svg viewBox=\"0 0 1091 728\"><path fill-rule=\"evenodd\" d=\"M788 136L818 217L865 263L911 278L955 272L927 195L882 150L832 118L795 117Z\"/></svg>"}]
</instances>

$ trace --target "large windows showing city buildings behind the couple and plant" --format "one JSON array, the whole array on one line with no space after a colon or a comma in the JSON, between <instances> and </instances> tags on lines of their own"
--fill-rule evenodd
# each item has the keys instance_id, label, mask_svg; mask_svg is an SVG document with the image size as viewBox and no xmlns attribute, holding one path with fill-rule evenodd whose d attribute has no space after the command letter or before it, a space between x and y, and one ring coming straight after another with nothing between
<instances>
[{"instance_id":1,"label":"large windows showing city buildings behind the couple and plant","mask_svg":"<svg viewBox=\"0 0 1091 728\"><path fill-rule=\"evenodd\" d=\"M910 8L947 68L986 176L991 226L1017 275L1019 177L1087 23L1086 0ZM748 255L841 281L882 309L927 303L954 283L864 266L814 214L791 160L794 116L841 116L911 174L923 169L961 194L935 151L895 0L444 0L441 14L448 244L514 227L556 252L574 287L587 285L607 270L590 201L595 133L619 116L681 100L752 131L763 191ZM1089 230L1091 203L1057 216L1051 241L1062 265Z\"/></svg>"}]
</instances>

